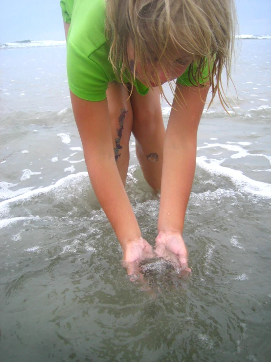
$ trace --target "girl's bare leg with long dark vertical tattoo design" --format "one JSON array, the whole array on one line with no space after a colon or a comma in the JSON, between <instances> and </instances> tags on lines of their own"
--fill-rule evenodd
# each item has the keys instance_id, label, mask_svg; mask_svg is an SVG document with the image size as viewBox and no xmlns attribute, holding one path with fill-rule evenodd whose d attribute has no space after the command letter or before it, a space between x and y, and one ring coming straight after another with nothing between
<instances>
[{"instance_id":1,"label":"girl's bare leg with long dark vertical tattoo design","mask_svg":"<svg viewBox=\"0 0 271 362\"><path fill-rule=\"evenodd\" d=\"M129 166L129 141L133 126L133 111L128 91L122 84L110 83L106 92L111 132L117 168L125 185Z\"/></svg>"}]
</instances>

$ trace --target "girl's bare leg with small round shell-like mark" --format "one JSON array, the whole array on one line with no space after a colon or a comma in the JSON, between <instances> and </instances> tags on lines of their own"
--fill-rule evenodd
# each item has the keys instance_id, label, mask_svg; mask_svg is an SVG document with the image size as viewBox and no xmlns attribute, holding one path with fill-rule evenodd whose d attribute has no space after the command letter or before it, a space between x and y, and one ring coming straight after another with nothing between
<instances>
[{"instance_id":1,"label":"girl's bare leg with small round shell-like mark","mask_svg":"<svg viewBox=\"0 0 271 362\"><path fill-rule=\"evenodd\" d=\"M140 96L136 89L131 95L134 114L133 134L136 156L148 184L155 190L161 187L165 127L160 106L159 90Z\"/></svg>"}]
</instances>

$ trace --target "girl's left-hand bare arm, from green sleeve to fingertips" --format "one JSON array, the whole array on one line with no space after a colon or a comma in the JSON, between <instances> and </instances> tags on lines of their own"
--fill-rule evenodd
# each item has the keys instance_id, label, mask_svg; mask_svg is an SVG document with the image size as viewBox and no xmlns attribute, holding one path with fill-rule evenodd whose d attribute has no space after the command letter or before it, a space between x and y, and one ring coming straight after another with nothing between
<instances>
[{"instance_id":1,"label":"girl's left-hand bare arm, from green sleeve to fingertips","mask_svg":"<svg viewBox=\"0 0 271 362\"><path fill-rule=\"evenodd\" d=\"M70 95L93 190L121 244L124 265L129 274L135 274L138 262L151 257L153 252L151 245L141 238L116 166L107 100L90 102L72 92Z\"/></svg>"}]
</instances>

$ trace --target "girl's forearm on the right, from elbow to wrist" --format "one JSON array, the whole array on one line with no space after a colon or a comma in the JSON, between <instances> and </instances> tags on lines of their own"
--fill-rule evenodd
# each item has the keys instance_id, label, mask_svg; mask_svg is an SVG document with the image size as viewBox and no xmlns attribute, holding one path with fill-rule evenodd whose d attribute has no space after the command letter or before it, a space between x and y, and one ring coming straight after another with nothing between
<instances>
[{"instance_id":1,"label":"girl's forearm on the right, from elbow to wrist","mask_svg":"<svg viewBox=\"0 0 271 362\"><path fill-rule=\"evenodd\" d=\"M196 165L196 140L180 147L165 140L158 232L182 234Z\"/></svg>"}]
</instances>

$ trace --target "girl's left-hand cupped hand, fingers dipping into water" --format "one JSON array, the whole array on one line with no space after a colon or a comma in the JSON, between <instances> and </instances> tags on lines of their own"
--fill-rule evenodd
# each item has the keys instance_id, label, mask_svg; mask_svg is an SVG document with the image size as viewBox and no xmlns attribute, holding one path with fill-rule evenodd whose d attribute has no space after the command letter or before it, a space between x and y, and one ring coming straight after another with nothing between
<instances>
[{"instance_id":1,"label":"girl's left-hand cupped hand, fingers dipping into water","mask_svg":"<svg viewBox=\"0 0 271 362\"><path fill-rule=\"evenodd\" d=\"M140 262L144 259L153 258L155 256L152 246L143 238L128 241L123 249L122 264L126 267L131 280L143 279L140 268Z\"/></svg>"}]
</instances>

